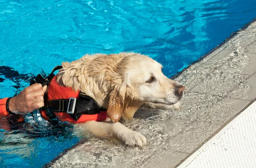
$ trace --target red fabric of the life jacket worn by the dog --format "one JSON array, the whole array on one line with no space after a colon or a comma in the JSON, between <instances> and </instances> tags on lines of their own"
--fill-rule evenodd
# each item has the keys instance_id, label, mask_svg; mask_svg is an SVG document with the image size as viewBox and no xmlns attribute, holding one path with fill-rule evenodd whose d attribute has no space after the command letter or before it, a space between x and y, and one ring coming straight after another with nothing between
<instances>
[{"instance_id":1,"label":"red fabric of the life jacket worn by the dog","mask_svg":"<svg viewBox=\"0 0 256 168\"><path fill-rule=\"evenodd\" d=\"M72 88L63 87L56 82L56 76L52 78L48 86L48 100L68 100L70 97L79 98L79 91L73 91ZM79 120L74 120L67 112L53 112L58 120L67 121L72 124L87 122L90 120L103 121L108 118L107 111L100 111L99 114L82 114ZM49 120L45 111L41 111L45 120Z\"/></svg>"}]
</instances>

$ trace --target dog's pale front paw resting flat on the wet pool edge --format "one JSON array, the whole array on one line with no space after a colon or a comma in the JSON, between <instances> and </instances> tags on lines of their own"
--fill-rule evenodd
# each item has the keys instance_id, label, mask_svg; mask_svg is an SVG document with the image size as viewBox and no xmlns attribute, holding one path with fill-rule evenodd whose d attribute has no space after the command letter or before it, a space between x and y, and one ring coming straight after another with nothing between
<instances>
[{"instance_id":1,"label":"dog's pale front paw resting flat on the wet pool edge","mask_svg":"<svg viewBox=\"0 0 256 168\"><path fill-rule=\"evenodd\" d=\"M122 134L117 135L119 141L125 145L130 145L130 146L139 146L143 147L147 144L146 138L140 133L136 131L128 131L124 132Z\"/></svg>"}]
</instances>

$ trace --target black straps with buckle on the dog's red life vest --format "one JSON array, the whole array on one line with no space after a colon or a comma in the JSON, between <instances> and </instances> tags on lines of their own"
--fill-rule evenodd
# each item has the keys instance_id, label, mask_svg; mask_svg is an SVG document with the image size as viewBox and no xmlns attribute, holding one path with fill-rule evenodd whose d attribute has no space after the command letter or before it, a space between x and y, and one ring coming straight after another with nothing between
<instances>
[{"instance_id":1,"label":"black straps with buckle on the dog's red life vest","mask_svg":"<svg viewBox=\"0 0 256 168\"><path fill-rule=\"evenodd\" d=\"M49 85L52 78L55 76L54 71L61 69L62 66L56 66L53 68L51 74L47 76L46 78L42 77L40 74L37 75L34 82L31 82L31 84L34 83L41 83L44 85ZM99 108L95 100L87 96L85 93L80 92L79 98L76 99L76 102L74 102L73 99L67 99L67 100L48 100L47 94L44 96L44 107L40 108L40 110L44 110L46 112L46 115L49 119L56 119L54 112L67 112L72 111L73 114L70 114L70 117L72 117L74 120L79 120L79 118L83 114L99 114L100 111L107 111L106 109Z\"/></svg>"}]
</instances>

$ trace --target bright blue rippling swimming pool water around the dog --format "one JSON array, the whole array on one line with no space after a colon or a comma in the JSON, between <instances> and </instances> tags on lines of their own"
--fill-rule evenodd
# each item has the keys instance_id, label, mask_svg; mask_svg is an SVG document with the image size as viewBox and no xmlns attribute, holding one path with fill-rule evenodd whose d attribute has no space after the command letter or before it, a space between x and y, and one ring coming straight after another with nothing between
<instances>
[{"instance_id":1,"label":"bright blue rippling swimming pool water around the dog","mask_svg":"<svg viewBox=\"0 0 256 168\"><path fill-rule=\"evenodd\" d=\"M0 0L0 97L86 53L140 52L171 77L254 17L255 0ZM6 131L5 122L4 167L43 166L79 141L67 123L20 123Z\"/></svg>"}]
</instances>

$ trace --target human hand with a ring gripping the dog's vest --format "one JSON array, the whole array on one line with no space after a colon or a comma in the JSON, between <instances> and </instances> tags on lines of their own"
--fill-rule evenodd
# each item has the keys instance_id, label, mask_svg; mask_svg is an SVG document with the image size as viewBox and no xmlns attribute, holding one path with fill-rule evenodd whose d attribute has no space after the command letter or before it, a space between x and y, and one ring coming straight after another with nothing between
<instances>
[{"instance_id":1,"label":"human hand with a ring gripping the dog's vest","mask_svg":"<svg viewBox=\"0 0 256 168\"><path fill-rule=\"evenodd\" d=\"M42 87L40 83L26 87L17 96L9 101L9 109L15 114L29 114L44 106L44 93L47 85Z\"/></svg>"}]
</instances>

